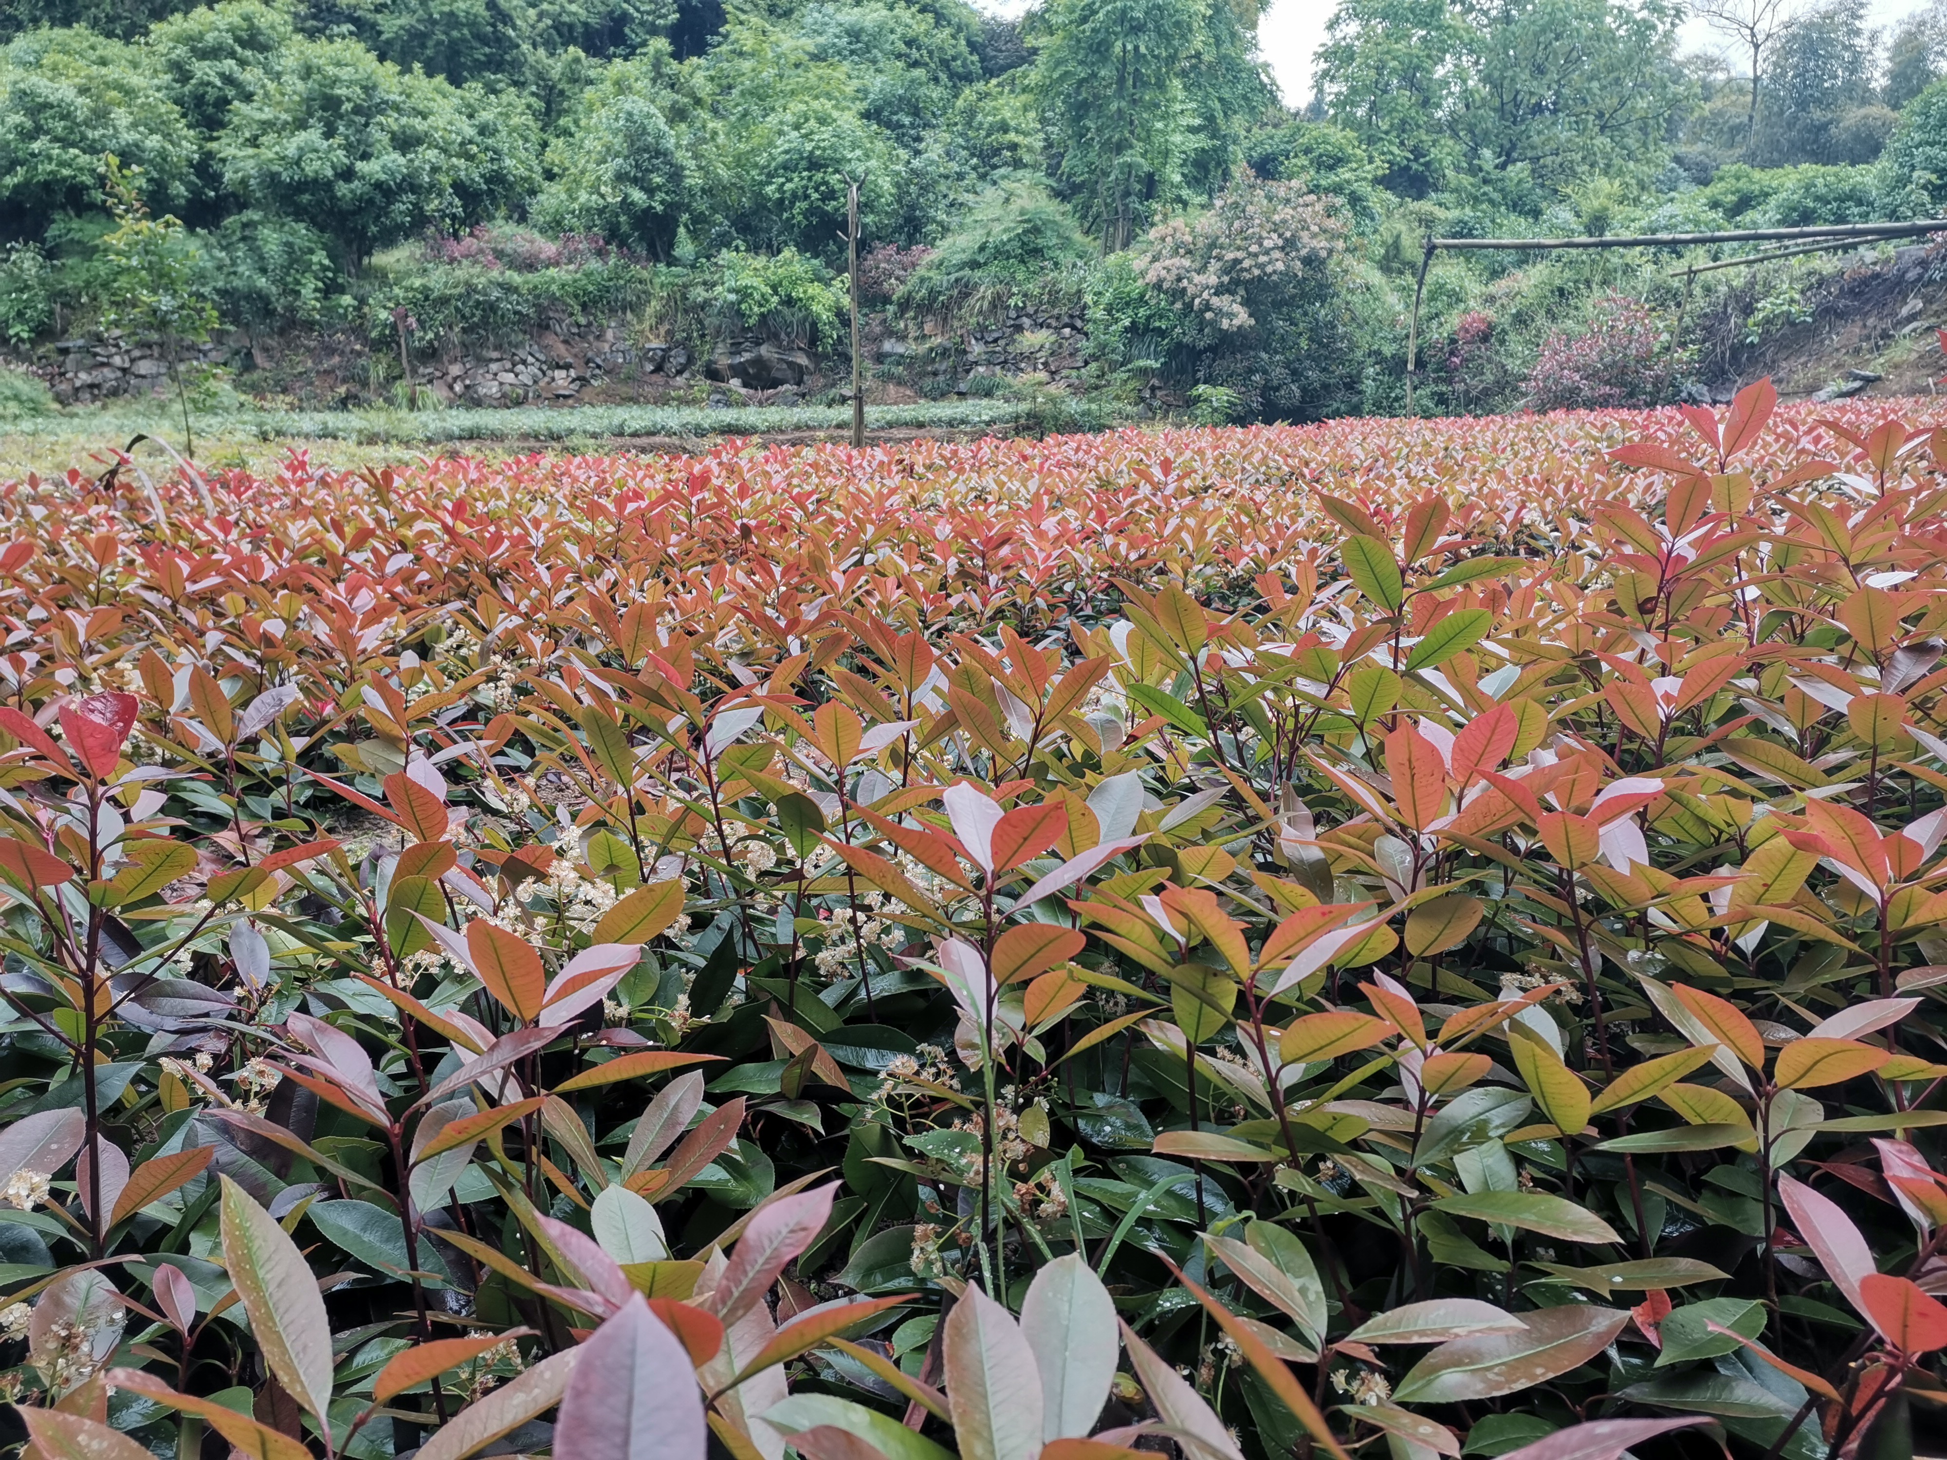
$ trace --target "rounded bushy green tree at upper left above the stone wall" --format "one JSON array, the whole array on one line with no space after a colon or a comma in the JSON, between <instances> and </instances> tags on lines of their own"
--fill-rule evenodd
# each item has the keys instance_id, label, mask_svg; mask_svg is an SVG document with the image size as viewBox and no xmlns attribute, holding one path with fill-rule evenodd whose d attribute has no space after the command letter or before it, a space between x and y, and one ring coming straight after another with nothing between
<instances>
[{"instance_id":1,"label":"rounded bushy green tree at upper left above the stone wall","mask_svg":"<svg viewBox=\"0 0 1947 1460\"><path fill-rule=\"evenodd\" d=\"M333 239L347 269L524 201L537 152L518 99L401 72L356 41L294 43L218 140L226 185Z\"/></svg>"}]
</instances>

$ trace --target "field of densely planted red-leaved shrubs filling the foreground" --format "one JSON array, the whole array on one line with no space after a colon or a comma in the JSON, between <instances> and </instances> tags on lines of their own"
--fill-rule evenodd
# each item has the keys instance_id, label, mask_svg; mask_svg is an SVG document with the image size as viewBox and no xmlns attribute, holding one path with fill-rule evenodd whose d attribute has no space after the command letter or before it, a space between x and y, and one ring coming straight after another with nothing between
<instances>
[{"instance_id":1,"label":"field of densely planted red-leaved shrubs filling the foreground","mask_svg":"<svg viewBox=\"0 0 1947 1460\"><path fill-rule=\"evenodd\" d=\"M1766 383L14 481L0 1439L1912 1456L1943 506Z\"/></svg>"}]
</instances>

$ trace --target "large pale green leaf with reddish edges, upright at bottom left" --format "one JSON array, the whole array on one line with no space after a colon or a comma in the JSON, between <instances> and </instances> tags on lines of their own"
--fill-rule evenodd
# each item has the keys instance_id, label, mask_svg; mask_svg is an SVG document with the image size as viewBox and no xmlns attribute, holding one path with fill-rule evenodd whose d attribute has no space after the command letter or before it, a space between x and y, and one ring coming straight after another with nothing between
<instances>
[{"instance_id":1,"label":"large pale green leaf with reddish edges, upright at bottom left","mask_svg":"<svg viewBox=\"0 0 1947 1460\"><path fill-rule=\"evenodd\" d=\"M224 1265L263 1361L290 1398L329 1425L331 1320L310 1263L276 1219L228 1176L220 1230Z\"/></svg>"}]
</instances>

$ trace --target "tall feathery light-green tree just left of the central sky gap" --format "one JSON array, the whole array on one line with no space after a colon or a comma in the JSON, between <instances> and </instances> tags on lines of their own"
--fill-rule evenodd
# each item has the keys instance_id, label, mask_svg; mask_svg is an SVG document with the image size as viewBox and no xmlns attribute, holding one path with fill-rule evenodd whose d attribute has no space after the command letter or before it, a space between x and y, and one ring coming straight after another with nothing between
<instances>
[{"instance_id":1,"label":"tall feathery light-green tree just left of the central sky gap","mask_svg":"<svg viewBox=\"0 0 1947 1460\"><path fill-rule=\"evenodd\" d=\"M1108 251L1182 197L1184 58L1203 23L1205 0L1051 0L1042 16L1036 82L1059 175Z\"/></svg>"}]
</instances>

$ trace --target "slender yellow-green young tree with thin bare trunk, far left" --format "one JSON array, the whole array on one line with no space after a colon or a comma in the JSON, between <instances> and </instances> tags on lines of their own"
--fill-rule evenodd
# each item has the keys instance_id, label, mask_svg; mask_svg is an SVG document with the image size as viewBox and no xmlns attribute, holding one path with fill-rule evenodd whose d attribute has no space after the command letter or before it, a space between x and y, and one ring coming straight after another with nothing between
<instances>
[{"instance_id":1,"label":"slender yellow-green young tree with thin bare trunk, far left","mask_svg":"<svg viewBox=\"0 0 1947 1460\"><path fill-rule=\"evenodd\" d=\"M113 154L105 158L105 167L115 232L101 239L107 263L103 323L162 343L175 399L183 407L183 456L195 456L189 389L177 356L183 345L201 345L216 329L216 306L197 288L197 241L173 214L150 216L138 173L125 171Z\"/></svg>"}]
</instances>

